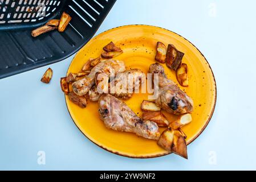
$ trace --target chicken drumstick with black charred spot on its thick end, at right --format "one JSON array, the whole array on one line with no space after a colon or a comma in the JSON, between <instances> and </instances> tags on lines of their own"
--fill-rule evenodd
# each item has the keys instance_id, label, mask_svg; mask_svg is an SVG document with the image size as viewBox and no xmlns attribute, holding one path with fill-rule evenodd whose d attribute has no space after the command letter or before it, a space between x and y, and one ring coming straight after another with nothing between
<instances>
[{"instance_id":1,"label":"chicken drumstick with black charred spot on its thick end, at right","mask_svg":"<svg viewBox=\"0 0 256 182\"><path fill-rule=\"evenodd\" d=\"M164 67L155 63L149 67L150 73L159 73L159 96L155 103L173 114L185 114L193 111L192 99L164 73Z\"/></svg>"}]
</instances>

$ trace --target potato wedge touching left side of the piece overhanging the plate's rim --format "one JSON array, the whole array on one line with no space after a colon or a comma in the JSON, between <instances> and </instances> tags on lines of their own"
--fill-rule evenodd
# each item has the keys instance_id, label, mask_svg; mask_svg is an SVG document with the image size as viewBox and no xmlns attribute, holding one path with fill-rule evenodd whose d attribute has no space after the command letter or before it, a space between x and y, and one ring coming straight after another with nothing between
<instances>
[{"instance_id":1,"label":"potato wedge touching left side of the piece overhanging the plate's rim","mask_svg":"<svg viewBox=\"0 0 256 182\"><path fill-rule=\"evenodd\" d=\"M172 152L174 130L166 129L160 136L157 144L168 152Z\"/></svg>"}]
</instances>

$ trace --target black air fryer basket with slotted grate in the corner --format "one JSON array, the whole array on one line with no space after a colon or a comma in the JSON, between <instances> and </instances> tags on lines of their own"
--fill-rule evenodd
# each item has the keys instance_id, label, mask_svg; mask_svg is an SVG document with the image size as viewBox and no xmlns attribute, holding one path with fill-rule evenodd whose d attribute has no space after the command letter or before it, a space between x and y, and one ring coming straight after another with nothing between
<instances>
[{"instance_id":1,"label":"black air fryer basket with slotted grate in the corner","mask_svg":"<svg viewBox=\"0 0 256 182\"><path fill-rule=\"evenodd\" d=\"M55 63L78 51L115 1L0 0L0 78ZM59 19L63 11L72 17L64 32L31 36L31 30Z\"/></svg>"}]
</instances>

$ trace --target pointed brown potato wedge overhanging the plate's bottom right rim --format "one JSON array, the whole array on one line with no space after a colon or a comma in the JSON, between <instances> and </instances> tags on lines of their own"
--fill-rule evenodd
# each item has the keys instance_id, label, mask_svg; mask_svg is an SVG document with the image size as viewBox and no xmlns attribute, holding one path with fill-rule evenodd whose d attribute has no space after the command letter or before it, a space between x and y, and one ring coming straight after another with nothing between
<instances>
[{"instance_id":1,"label":"pointed brown potato wedge overhanging the plate's bottom right rim","mask_svg":"<svg viewBox=\"0 0 256 182\"><path fill-rule=\"evenodd\" d=\"M179 130L174 130L172 152L188 159L188 152L186 150L186 140Z\"/></svg>"}]
</instances>

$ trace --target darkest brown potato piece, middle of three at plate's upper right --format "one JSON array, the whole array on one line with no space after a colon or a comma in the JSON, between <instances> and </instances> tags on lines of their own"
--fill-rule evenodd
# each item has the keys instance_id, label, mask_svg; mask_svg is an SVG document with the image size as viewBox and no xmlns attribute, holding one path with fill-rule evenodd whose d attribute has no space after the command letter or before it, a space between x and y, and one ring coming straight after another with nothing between
<instances>
[{"instance_id":1,"label":"darkest brown potato piece, middle of three at plate's upper right","mask_svg":"<svg viewBox=\"0 0 256 182\"><path fill-rule=\"evenodd\" d=\"M172 44L169 44L166 52L166 65L174 71L181 65L184 53L178 51Z\"/></svg>"}]
</instances>

